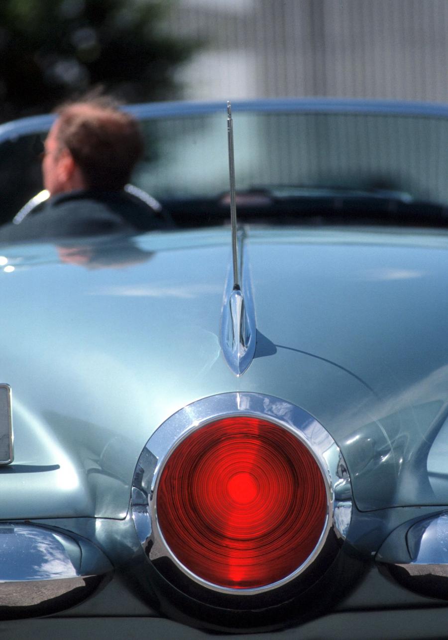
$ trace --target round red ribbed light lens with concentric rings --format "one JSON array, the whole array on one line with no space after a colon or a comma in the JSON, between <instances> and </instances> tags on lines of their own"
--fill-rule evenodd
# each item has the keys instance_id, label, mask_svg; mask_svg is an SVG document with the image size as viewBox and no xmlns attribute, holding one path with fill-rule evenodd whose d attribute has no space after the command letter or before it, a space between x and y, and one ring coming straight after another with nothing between
<instances>
[{"instance_id":1,"label":"round red ribbed light lens with concentric rings","mask_svg":"<svg viewBox=\"0 0 448 640\"><path fill-rule=\"evenodd\" d=\"M316 548L327 497L314 456L290 431L230 417L193 431L167 461L157 518L168 547L217 586L260 588Z\"/></svg>"}]
</instances>

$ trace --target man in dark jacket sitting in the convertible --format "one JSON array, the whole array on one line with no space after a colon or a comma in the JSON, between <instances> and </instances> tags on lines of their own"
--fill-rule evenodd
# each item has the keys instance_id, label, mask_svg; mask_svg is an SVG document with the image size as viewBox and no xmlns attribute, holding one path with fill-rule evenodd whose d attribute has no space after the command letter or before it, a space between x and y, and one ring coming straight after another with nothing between
<instances>
[{"instance_id":1,"label":"man in dark jacket sitting in the convertible","mask_svg":"<svg viewBox=\"0 0 448 640\"><path fill-rule=\"evenodd\" d=\"M138 123L111 100L63 106L42 154L51 197L19 225L0 228L0 243L160 228L154 211L124 191L142 153Z\"/></svg>"}]
</instances>

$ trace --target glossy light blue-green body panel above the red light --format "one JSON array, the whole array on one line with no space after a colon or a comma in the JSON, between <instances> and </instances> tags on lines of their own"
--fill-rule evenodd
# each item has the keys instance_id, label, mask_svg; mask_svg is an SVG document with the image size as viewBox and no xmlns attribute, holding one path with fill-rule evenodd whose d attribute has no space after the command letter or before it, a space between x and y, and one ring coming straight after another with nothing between
<instances>
[{"instance_id":1,"label":"glossy light blue-green body panel above the red light","mask_svg":"<svg viewBox=\"0 0 448 640\"><path fill-rule=\"evenodd\" d=\"M235 391L314 415L358 509L448 503L446 233L246 229L257 348L240 377L219 340L229 230L0 253L15 433L3 518L124 518L154 430Z\"/></svg>"}]
</instances>

